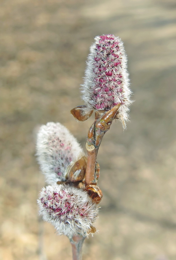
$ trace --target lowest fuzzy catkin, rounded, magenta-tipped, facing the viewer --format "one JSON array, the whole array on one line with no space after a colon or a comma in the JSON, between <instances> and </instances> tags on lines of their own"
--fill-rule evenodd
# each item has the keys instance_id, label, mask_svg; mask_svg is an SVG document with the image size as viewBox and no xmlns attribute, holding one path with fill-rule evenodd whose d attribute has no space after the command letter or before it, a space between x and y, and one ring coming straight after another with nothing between
<instances>
[{"instance_id":1,"label":"lowest fuzzy catkin, rounded, magenta-tipped, facing the viewer","mask_svg":"<svg viewBox=\"0 0 176 260\"><path fill-rule=\"evenodd\" d=\"M38 205L43 220L68 237L88 235L98 215L98 205L86 191L65 184L43 187Z\"/></svg>"}]
</instances>

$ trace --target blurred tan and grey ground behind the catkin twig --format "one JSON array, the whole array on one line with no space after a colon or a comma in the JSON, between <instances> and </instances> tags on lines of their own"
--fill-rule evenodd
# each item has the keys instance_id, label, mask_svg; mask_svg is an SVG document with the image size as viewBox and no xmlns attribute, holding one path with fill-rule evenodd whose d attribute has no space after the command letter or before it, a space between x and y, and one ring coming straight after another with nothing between
<instances>
[{"instance_id":1,"label":"blurred tan and grey ground behind the catkin twig","mask_svg":"<svg viewBox=\"0 0 176 260\"><path fill-rule=\"evenodd\" d=\"M114 34L135 102L127 130L114 122L99 150L99 233L84 243L83 259L175 260L175 0L4 0L0 17L0 259L72 258L68 238L39 221L45 183L35 135L61 122L85 144L93 117L77 122L70 110L83 104L94 37Z\"/></svg>"}]
</instances>

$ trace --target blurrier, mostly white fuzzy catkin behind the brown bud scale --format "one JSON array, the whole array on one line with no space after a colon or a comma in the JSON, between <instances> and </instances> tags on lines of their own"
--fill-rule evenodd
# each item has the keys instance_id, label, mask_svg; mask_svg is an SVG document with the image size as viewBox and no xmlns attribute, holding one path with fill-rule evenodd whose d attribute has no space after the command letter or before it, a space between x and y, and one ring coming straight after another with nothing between
<instances>
[{"instance_id":1,"label":"blurrier, mostly white fuzzy catkin behind the brown bud scale","mask_svg":"<svg viewBox=\"0 0 176 260\"><path fill-rule=\"evenodd\" d=\"M42 125L37 135L36 155L48 184L66 181L67 167L84 152L74 136L60 123Z\"/></svg>"}]
</instances>

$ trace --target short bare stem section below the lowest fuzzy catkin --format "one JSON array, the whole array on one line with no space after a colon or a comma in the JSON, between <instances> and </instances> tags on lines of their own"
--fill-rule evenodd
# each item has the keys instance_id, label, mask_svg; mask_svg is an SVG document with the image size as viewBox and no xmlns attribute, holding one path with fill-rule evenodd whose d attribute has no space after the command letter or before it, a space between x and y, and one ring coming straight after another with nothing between
<instances>
[{"instance_id":1,"label":"short bare stem section below the lowest fuzzy catkin","mask_svg":"<svg viewBox=\"0 0 176 260\"><path fill-rule=\"evenodd\" d=\"M85 238L82 235L69 237L72 245L73 260L82 260L82 246Z\"/></svg>"}]
</instances>

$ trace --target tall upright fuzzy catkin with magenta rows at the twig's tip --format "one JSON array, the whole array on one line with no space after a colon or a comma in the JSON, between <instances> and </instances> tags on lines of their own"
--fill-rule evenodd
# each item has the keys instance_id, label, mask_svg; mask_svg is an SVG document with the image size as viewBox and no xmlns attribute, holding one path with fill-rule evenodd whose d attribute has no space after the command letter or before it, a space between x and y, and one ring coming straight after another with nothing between
<instances>
[{"instance_id":1,"label":"tall upright fuzzy catkin with magenta rows at the twig's tip","mask_svg":"<svg viewBox=\"0 0 176 260\"><path fill-rule=\"evenodd\" d=\"M82 98L88 109L108 111L121 103L118 118L125 126L131 90L123 42L112 34L95 37L87 59Z\"/></svg>"}]
</instances>

